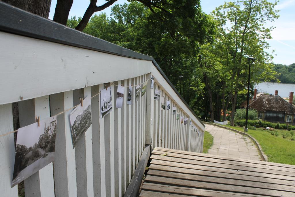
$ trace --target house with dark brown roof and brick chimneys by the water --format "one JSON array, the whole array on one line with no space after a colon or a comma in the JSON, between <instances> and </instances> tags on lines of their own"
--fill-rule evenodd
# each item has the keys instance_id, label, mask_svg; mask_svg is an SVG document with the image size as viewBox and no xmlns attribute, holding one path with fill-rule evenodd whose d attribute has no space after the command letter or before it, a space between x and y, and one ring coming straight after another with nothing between
<instances>
[{"instance_id":1,"label":"house with dark brown roof and brick chimneys by the water","mask_svg":"<svg viewBox=\"0 0 295 197\"><path fill-rule=\"evenodd\" d=\"M278 95L278 90L274 95L257 95L257 89L254 89L254 97L249 100L249 109L255 109L258 112L258 119L263 121L294 124L293 94L290 92L288 102ZM241 107L246 108L247 101L244 101Z\"/></svg>"}]
</instances>

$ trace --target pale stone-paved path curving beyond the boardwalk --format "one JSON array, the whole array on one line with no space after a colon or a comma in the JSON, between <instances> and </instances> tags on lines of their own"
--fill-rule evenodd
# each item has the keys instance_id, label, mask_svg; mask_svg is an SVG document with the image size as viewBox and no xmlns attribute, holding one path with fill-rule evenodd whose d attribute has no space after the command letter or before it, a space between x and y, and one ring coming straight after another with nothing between
<instances>
[{"instance_id":1,"label":"pale stone-paved path curving beyond the boardwalk","mask_svg":"<svg viewBox=\"0 0 295 197\"><path fill-rule=\"evenodd\" d=\"M261 160L258 150L250 138L240 133L205 124L205 130L213 137L213 145L208 154L241 159Z\"/></svg>"}]
</instances>

